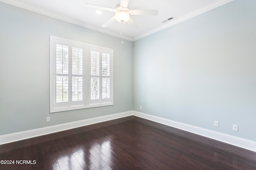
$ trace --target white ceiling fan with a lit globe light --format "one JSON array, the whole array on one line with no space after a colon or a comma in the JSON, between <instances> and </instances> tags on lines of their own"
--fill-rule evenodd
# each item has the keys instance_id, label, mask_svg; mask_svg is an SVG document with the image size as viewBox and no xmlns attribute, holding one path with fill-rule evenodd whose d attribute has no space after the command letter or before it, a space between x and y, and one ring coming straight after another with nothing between
<instances>
[{"instance_id":1,"label":"white ceiling fan with a lit globe light","mask_svg":"<svg viewBox=\"0 0 256 170\"><path fill-rule=\"evenodd\" d=\"M95 8L98 10L106 10L110 12L116 12L116 14L110 18L110 20L106 21L102 27L107 27L112 23L113 21L117 20L118 22L124 23L127 22L132 25L136 25L134 21L130 18L130 15L151 15L151 16L157 16L158 10L130 10L128 6L129 0L121 0L120 4L116 5L116 8L108 8L104 6L98 6L94 4L85 4L87 7Z\"/></svg>"}]
</instances>

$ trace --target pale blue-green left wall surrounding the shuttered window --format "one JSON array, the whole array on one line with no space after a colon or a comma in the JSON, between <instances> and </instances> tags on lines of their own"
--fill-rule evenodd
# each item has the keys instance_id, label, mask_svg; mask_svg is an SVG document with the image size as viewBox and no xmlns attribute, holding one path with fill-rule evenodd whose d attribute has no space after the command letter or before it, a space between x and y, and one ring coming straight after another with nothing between
<instances>
[{"instance_id":1,"label":"pale blue-green left wall surrounding the shuttered window","mask_svg":"<svg viewBox=\"0 0 256 170\"><path fill-rule=\"evenodd\" d=\"M50 35L114 49L114 106L49 113ZM130 110L131 41L0 2L0 135Z\"/></svg>"}]
</instances>

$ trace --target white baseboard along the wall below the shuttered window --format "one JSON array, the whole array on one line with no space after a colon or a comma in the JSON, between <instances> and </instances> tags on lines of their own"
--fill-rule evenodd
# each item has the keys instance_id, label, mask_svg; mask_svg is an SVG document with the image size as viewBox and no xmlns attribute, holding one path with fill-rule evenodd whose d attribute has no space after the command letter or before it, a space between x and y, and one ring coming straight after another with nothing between
<instances>
[{"instance_id":1,"label":"white baseboard along the wall below the shuttered window","mask_svg":"<svg viewBox=\"0 0 256 170\"><path fill-rule=\"evenodd\" d=\"M22 131L22 132L18 132L18 133L1 135L0 136L0 145L5 144L5 143L20 141L20 140L24 140L24 139L29 139L32 137L47 135L47 134L55 133L55 132L59 132L59 131L65 131L65 130L73 129L76 127L91 125L94 123L100 123L100 122L104 122L104 121L118 119L121 117L127 117L127 116L132 115L132 113L133 113L132 111L126 111L126 112L122 112L122 113L116 113L116 114L112 114L112 115L106 115L106 116L95 117L95 118L91 118L91 119L74 121L74 122L64 123L64 124L60 124L60 125L48 126L48 127L43 127L43 128L39 128L39 129L32 129L29 131Z\"/></svg>"}]
</instances>

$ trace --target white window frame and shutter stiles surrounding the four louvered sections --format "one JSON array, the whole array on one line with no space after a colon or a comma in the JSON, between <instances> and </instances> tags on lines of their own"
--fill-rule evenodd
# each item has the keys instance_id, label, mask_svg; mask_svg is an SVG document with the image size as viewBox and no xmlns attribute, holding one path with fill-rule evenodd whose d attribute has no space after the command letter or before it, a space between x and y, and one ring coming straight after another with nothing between
<instances>
[{"instance_id":1,"label":"white window frame and shutter stiles surrounding the four louvered sections","mask_svg":"<svg viewBox=\"0 0 256 170\"><path fill-rule=\"evenodd\" d=\"M56 42L60 42L61 44L65 44L68 45L68 54L69 57L72 58L72 48L82 48L83 49L83 68L82 68L82 102L80 102L81 105L79 106L72 106L72 103L75 103L74 101L72 102L72 91L69 91L69 100L68 101L68 106L64 105L63 107L56 107L56 106L61 106L61 104L57 104L56 102ZM98 102L92 102L92 100L90 99L91 97L91 82L90 82L90 65L91 65L91 49L95 49L97 51L100 51L100 59L102 59L102 52L106 52L110 55L110 98L106 99L101 99L98 100ZM65 39L65 38L61 38L61 37L56 37L56 36L52 36L50 35L50 113L54 113L54 112L59 112L59 111L69 111L69 110L75 110L75 109L85 109L85 108L90 108L90 107L101 107L101 106L110 106L114 104L114 100L113 100L113 53L114 50L113 49L109 49L106 47L100 47L100 46L96 46L96 45L91 45L88 43L83 43L83 42L79 42L79 41L74 41L74 40L70 40L70 39ZM70 59L70 61L72 61L72 59ZM102 62L102 61L101 61ZM100 63L101 63L100 62ZM70 66L71 65L71 66ZM102 78L102 66L100 66L100 78ZM70 72L71 71L71 72ZM70 80L70 78L72 78L72 62L69 63L69 73L68 73L68 78L69 78L69 89L72 89L72 80ZM100 80L100 83L102 83L102 79ZM101 87L101 86L100 86ZM100 92L102 93L102 89L100 90ZM100 94L101 96L102 94ZM61 102L59 102L61 103ZM82 104L83 103L83 104Z\"/></svg>"}]
</instances>

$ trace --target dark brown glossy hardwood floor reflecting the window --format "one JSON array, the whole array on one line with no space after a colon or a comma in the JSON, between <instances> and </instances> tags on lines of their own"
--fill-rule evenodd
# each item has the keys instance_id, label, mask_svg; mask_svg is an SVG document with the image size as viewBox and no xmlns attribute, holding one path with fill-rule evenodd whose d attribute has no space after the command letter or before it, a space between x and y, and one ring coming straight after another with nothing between
<instances>
[{"instance_id":1,"label":"dark brown glossy hardwood floor reflecting the window","mask_svg":"<svg viewBox=\"0 0 256 170\"><path fill-rule=\"evenodd\" d=\"M0 170L256 170L256 152L135 116L0 145L0 160L14 160Z\"/></svg>"}]
</instances>

